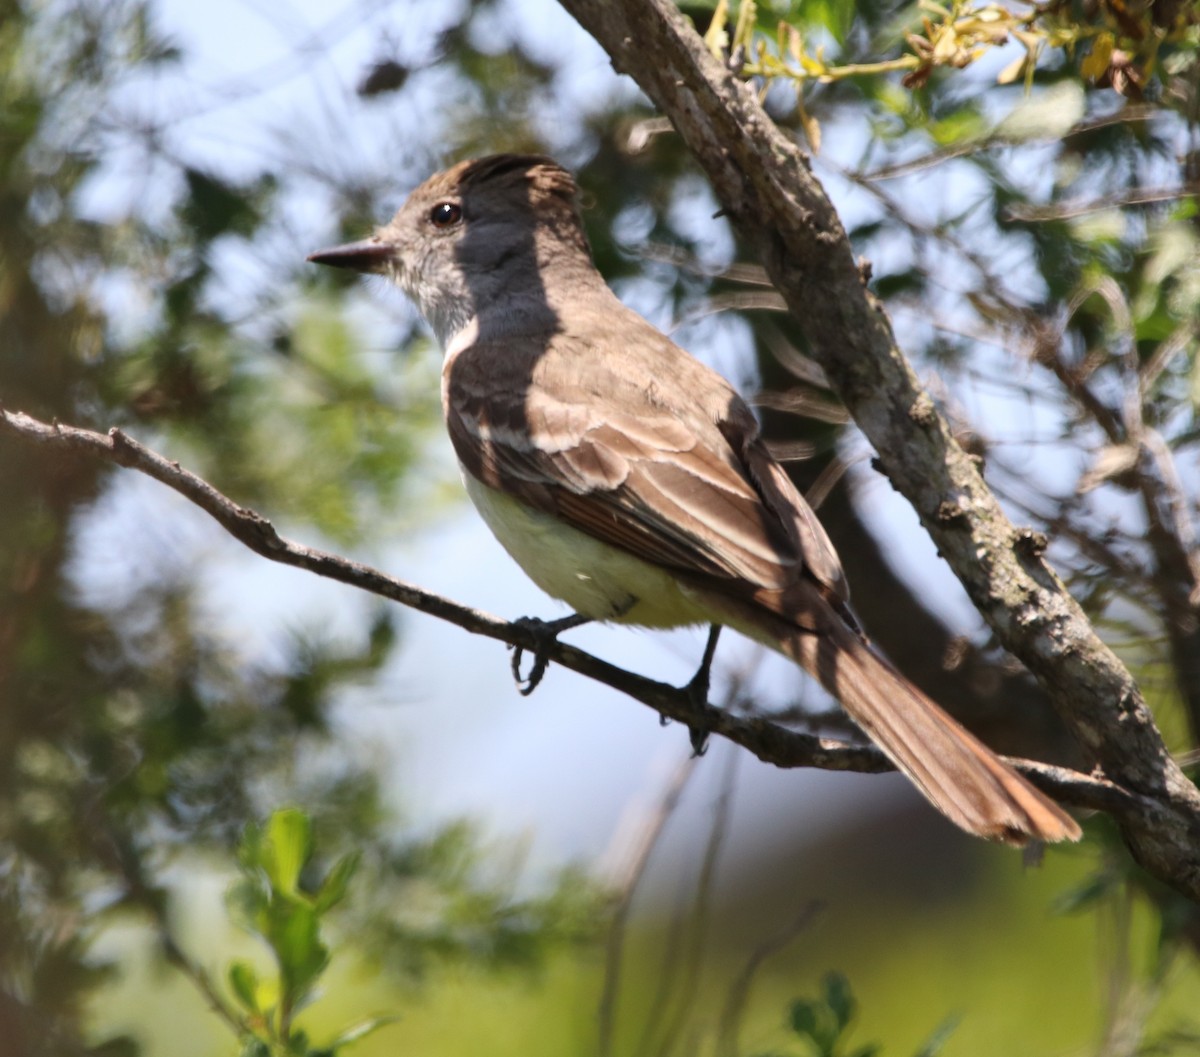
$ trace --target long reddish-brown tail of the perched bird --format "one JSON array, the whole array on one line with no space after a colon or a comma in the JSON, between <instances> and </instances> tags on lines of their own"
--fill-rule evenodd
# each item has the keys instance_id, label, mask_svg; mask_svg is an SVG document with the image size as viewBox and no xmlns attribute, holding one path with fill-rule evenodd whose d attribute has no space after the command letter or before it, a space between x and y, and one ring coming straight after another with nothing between
<instances>
[{"instance_id":1,"label":"long reddish-brown tail of the perched bird","mask_svg":"<svg viewBox=\"0 0 1200 1057\"><path fill-rule=\"evenodd\" d=\"M725 600L726 603L728 600ZM826 687L926 799L967 833L1024 845L1079 840L1079 824L876 654L824 600L820 631L734 603L733 626ZM732 615L732 614L731 614Z\"/></svg>"}]
</instances>

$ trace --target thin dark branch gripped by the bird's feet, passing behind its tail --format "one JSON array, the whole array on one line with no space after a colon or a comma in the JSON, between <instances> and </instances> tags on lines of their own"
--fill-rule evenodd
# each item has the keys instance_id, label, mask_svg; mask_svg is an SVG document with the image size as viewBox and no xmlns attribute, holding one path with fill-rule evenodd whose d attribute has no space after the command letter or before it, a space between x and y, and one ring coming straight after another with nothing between
<instances>
[{"instance_id":1,"label":"thin dark branch gripped by the bird's feet, passing behind its tail","mask_svg":"<svg viewBox=\"0 0 1200 1057\"><path fill-rule=\"evenodd\" d=\"M368 565L306 547L281 536L264 517L239 506L208 481L139 444L121 430L107 434L59 422L43 422L20 412L0 407L0 437L25 444L40 444L70 454L102 458L173 488L215 518L234 539L251 551L336 579L456 624L473 635L508 643L518 650L545 656L581 675L619 690L654 709L664 719L676 720L690 731L718 734L754 753L764 763L781 768L814 767L823 770L880 773L892 770L888 759L872 745L851 745L830 738L791 731L770 720L738 716L698 701L689 686L676 687L626 672L575 647L547 639L527 621L502 620L432 591L406 583ZM1118 819L1136 823L1166 810L1156 800L1124 789L1102 777L1025 759L1010 759L1038 787L1064 804L1105 811Z\"/></svg>"}]
</instances>

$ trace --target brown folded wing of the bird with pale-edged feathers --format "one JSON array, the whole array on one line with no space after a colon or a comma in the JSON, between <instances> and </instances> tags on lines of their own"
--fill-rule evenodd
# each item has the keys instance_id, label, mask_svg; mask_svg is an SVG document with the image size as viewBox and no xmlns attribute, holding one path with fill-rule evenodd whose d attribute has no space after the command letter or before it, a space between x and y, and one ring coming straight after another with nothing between
<instances>
[{"instance_id":1,"label":"brown folded wing of the bird with pale-edged feathers","mask_svg":"<svg viewBox=\"0 0 1200 1057\"><path fill-rule=\"evenodd\" d=\"M654 355L634 371L594 354L581 370L588 350L560 334L516 356L511 341L460 352L443 398L467 472L680 572L778 589L804 569L844 596L833 547L745 403L648 324L641 336Z\"/></svg>"}]
</instances>

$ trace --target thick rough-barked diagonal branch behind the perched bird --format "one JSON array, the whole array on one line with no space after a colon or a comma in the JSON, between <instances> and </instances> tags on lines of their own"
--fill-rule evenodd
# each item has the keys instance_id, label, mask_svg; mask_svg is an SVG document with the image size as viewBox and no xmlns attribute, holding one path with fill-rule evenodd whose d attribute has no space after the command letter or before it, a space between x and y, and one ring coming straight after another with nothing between
<instances>
[{"instance_id":1,"label":"thick rough-barked diagonal branch behind the perched bird","mask_svg":"<svg viewBox=\"0 0 1200 1057\"><path fill-rule=\"evenodd\" d=\"M1133 677L1043 560L1040 541L1008 521L920 386L806 156L671 0L560 2L671 119L1000 642L1104 773L1162 806L1156 821L1124 827L1134 855L1200 896L1200 791L1168 753Z\"/></svg>"}]
</instances>

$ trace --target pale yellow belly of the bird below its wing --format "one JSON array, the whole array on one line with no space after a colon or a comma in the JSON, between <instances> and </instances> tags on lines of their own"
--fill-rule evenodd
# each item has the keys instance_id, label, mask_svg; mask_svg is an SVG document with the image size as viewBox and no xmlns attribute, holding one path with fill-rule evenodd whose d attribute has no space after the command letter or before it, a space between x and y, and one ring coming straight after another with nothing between
<instances>
[{"instance_id":1,"label":"pale yellow belly of the bird below its wing","mask_svg":"<svg viewBox=\"0 0 1200 1057\"><path fill-rule=\"evenodd\" d=\"M646 627L708 624L714 617L670 572L488 488L463 482L492 534L552 597L593 620Z\"/></svg>"}]
</instances>

